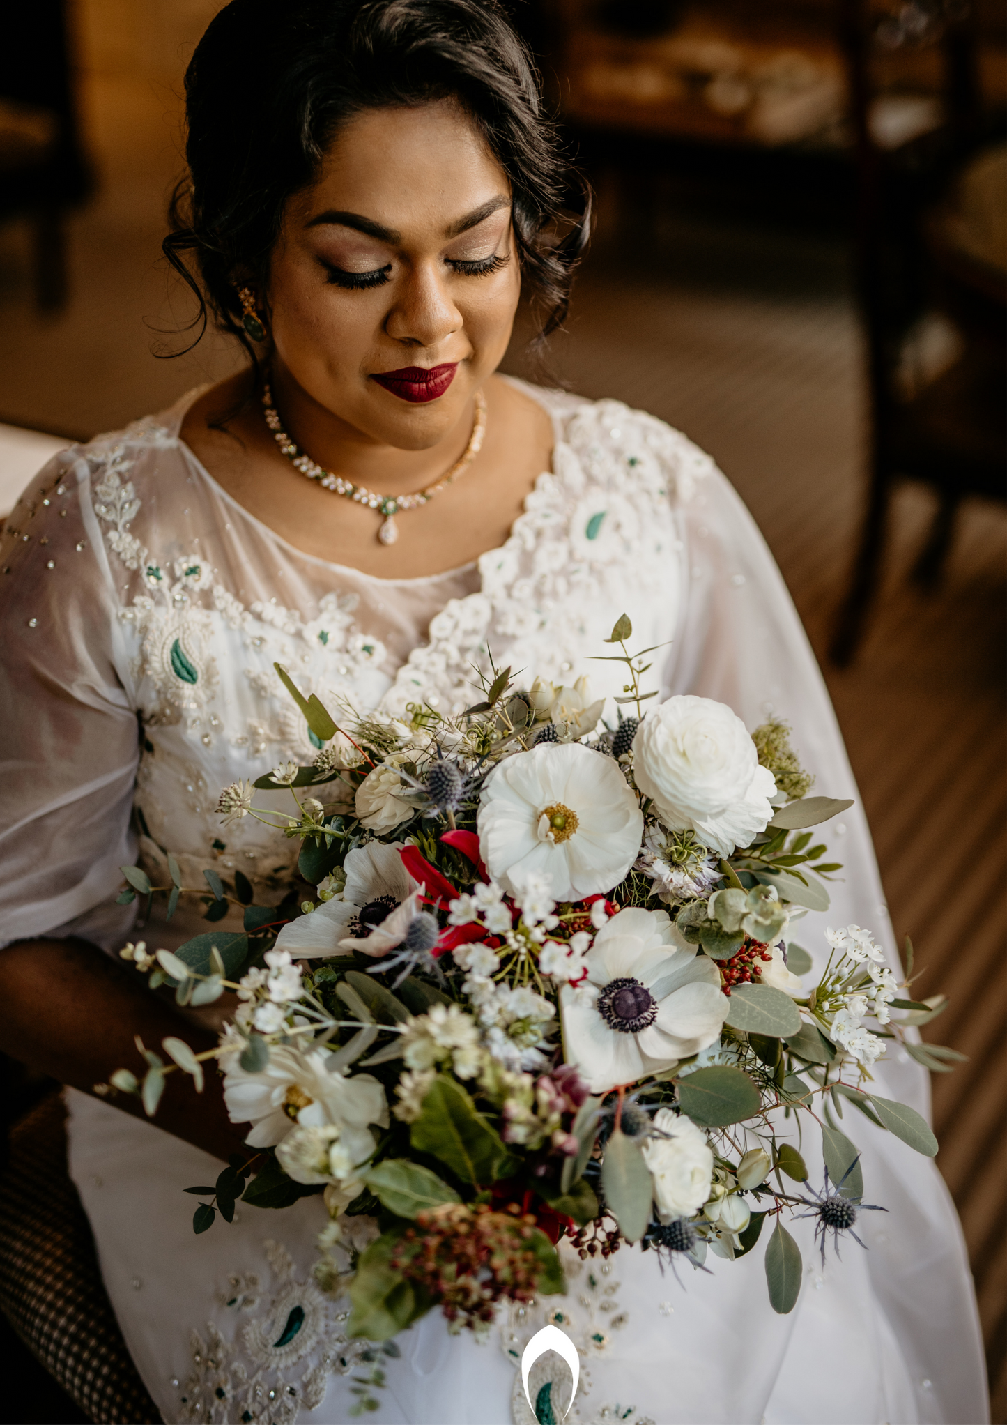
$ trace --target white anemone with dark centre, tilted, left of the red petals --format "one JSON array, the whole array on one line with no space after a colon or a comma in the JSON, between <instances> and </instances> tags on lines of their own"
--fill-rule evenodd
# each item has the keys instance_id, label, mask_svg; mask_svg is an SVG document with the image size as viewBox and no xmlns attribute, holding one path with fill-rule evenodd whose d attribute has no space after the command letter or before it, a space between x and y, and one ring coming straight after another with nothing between
<instances>
[{"instance_id":1,"label":"white anemone with dark centre, tilted, left of the red petals","mask_svg":"<svg viewBox=\"0 0 1007 1425\"><path fill-rule=\"evenodd\" d=\"M323 901L311 915L291 921L276 936L276 949L292 956L342 953L348 936L366 936L397 905L417 891L416 881L402 864L402 842L372 841L355 846L343 869L346 885L340 896Z\"/></svg>"}]
</instances>

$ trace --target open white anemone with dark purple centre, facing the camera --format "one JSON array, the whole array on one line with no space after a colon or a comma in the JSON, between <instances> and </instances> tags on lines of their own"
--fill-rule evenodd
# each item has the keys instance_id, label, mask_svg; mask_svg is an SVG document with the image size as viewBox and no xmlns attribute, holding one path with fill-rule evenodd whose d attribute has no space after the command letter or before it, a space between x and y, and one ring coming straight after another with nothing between
<instances>
[{"instance_id":1,"label":"open white anemone with dark purple centre, facing the camera","mask_svg":"<svg viewBox=\"0 0 1007 1425\"><path fill-rule=\"evenodd\" d=\"M563 1042L591 1093L671 1069L719 1037L721 973L667 911L620 911L584 956L587 982L560 990Z\"/></svg>"}]
</instances>

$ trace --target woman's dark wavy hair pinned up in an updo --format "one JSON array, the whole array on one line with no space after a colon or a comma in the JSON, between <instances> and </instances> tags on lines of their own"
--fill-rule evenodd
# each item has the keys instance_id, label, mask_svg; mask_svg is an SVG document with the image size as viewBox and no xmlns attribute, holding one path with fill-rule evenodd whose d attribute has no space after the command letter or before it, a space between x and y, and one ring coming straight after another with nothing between
<instances>
[{"instance_id":1,"label":"woman's dark wavy hair pinned up in an updo","mask_svg":"<svg viewBox=\"0 0 1007 1425\"><path fill-rule=\"evenodd\" d=\"M538 339L564 319L590 221L558 235L571 170L544 118L524 46L496 0L231 0L185 73L188 174L164 252L218 325L255 352L236 286L265 285L283 207L342 124L372 108L457 98L507 174ZM198 284L182 254L195 254ZM189 348L191 349L191 348Z\"/></svg>"}]
</instances>

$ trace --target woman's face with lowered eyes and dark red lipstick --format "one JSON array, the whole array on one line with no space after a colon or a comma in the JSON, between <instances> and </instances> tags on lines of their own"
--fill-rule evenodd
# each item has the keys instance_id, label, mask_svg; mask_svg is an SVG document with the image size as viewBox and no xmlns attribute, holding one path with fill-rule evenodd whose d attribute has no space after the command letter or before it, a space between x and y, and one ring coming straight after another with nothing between
<instances>
[{"instance_id":1,"label":"woman's face with lowered eyes and dark red lipstick","mask_svg":"<svg viewBox=\"0 0 1007 1425\"><path fill-rule=\"evenodd\" d=\"M286 205L268 289L278 385L336 428L429 449L503 358L518 292L510 185L460 107L370 110Z\"/></svg>"}]
</instances>

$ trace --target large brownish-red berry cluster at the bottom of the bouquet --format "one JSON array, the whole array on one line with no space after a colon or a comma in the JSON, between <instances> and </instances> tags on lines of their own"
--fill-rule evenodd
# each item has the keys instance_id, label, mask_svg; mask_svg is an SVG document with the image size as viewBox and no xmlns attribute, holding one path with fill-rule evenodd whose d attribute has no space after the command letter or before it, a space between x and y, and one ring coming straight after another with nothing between
<instances>
[{"instance_id":1,"label":"large brownish-red berry cluster at the bottom of the bouquet","mask_svg":"<svg viewBox=\"0 0 1007 1425\"><path fill-rule=\"evenodd\" d=\"M469 1330L491 1322L497 1301L531 1301L541 1261L536 1218L517 1203L494 1213L489 1206L446 1203L417 1213L390 1260L442 1307L449 1321Z\"/></svg>"}]
</instances>

